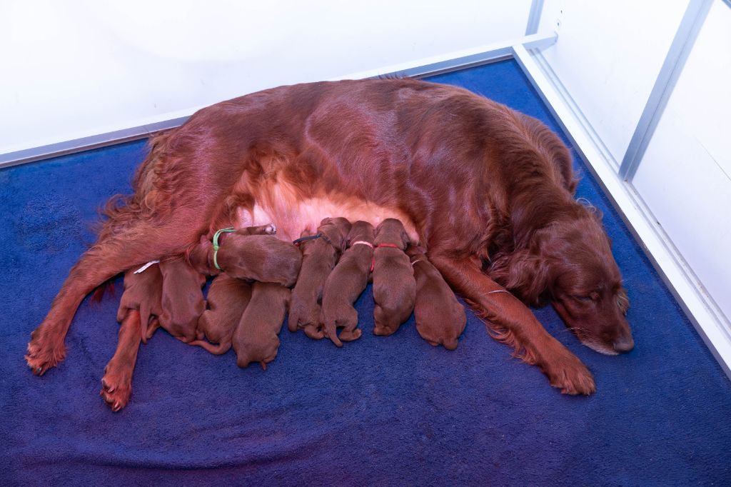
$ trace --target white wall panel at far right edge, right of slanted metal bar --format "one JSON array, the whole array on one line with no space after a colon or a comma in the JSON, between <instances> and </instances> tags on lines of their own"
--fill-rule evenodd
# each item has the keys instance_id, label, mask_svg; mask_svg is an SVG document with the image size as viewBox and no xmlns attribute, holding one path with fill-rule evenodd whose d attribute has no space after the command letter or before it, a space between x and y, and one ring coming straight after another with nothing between
<instances>
[{"instance_id":1,"label":"white wall panel at far right edge, right of slanted metal bar","mask_svg":"<svg viewBox=\"0 0 731 487\"><path fill-rule=\"evenodd\" d=\"M632 180L731 317L731 8L713 3Z\"/></svg>"}]
</instances>

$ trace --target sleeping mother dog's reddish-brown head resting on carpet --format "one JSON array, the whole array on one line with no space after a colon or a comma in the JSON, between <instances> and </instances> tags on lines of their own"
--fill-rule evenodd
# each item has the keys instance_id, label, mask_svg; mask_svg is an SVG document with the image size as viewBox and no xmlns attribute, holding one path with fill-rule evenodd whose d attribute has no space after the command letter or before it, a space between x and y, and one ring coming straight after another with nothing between
<instances>
[{"instance_id":1,"label":"sleeping mother dog's reddish-brown head resting on carpet","mask_svg":"<svg viewBox=\"0 0 731 487\"><path fill-rule=\"evenodd\" d=\"M551 301L587 347L607 355L629 352L635 347L625 318L629 300L601 217L579 203L572 207L494 260L489 273L526 303Z\"/></svg>"}]
</instances>

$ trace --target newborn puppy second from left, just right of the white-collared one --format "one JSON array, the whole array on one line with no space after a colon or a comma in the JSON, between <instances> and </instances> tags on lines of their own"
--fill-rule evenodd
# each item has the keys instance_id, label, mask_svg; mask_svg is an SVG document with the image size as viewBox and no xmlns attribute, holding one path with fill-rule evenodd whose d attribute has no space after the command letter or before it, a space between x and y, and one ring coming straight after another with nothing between
<instances>
[{"instance_id":1,"label":"newborn puppy second from left, just right of the white-collared one","mask_svg":"<svg viewBox=\"0 0 731 487\"><path fill-rule=\"evenodd\" d=\"M205 310L202 292L205 276L183 257L163 260L160 263L160 273L162 312L159 315L159 325L178 340L186 343L194 341L197 339L198 318Z\"/></svg>"}]
</instances>

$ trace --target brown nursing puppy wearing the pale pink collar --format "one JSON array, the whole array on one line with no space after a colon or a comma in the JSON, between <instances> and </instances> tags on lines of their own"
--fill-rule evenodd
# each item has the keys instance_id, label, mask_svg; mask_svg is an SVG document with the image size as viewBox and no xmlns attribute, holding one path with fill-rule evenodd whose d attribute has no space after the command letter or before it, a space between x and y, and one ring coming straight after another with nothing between
<instances>
[{"instance_id":1,"label":"brown nursing puppy wearing the pale pink collar","mask_svg":"<svg viewBox=\"0 0 731 487\"><path fill-rule=\"evenodd\" d=\"M320 322L325 336L338 347L342 341L359 339L358 313L353 303L366 289L373 265L374 228L368 222L355 222L346 238L348 249L340 257L322 290ZM340 337L336 328L344 328ZM342 341L341 341L342 340Z\"/></svg>"}]
</instances>

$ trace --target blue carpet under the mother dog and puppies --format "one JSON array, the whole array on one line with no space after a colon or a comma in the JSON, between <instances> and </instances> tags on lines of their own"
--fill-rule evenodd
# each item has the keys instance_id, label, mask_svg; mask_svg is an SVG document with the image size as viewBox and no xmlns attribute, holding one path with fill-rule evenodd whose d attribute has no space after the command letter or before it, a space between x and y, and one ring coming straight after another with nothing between
<instances>
[{"instance_id":1,"label":"blue carpet under the mother dog and puppies","mask_svg":"<svg viewBox=\"0 0 731 487\"><path fill-rule=\"evenodd\" d=\"M514 61L432 78L555 121ZM0 484L669 486L731 483L731 387L640 247L580 162L578 195L605 225L632 307L637 347L606 357L580 345L550 307L550 333L594 371L597 392L561 396L511 360L468 314L454 352L413 321L342 349L284 327L266 372L159 332L140 350L132 401L99 398L117 299L85 301L67 360L26 369L31 331L94 240L107 197L129 192L143 142L0 171ZM577 156L575 155L577 159Z\"/></svg>"}]
</instances>

